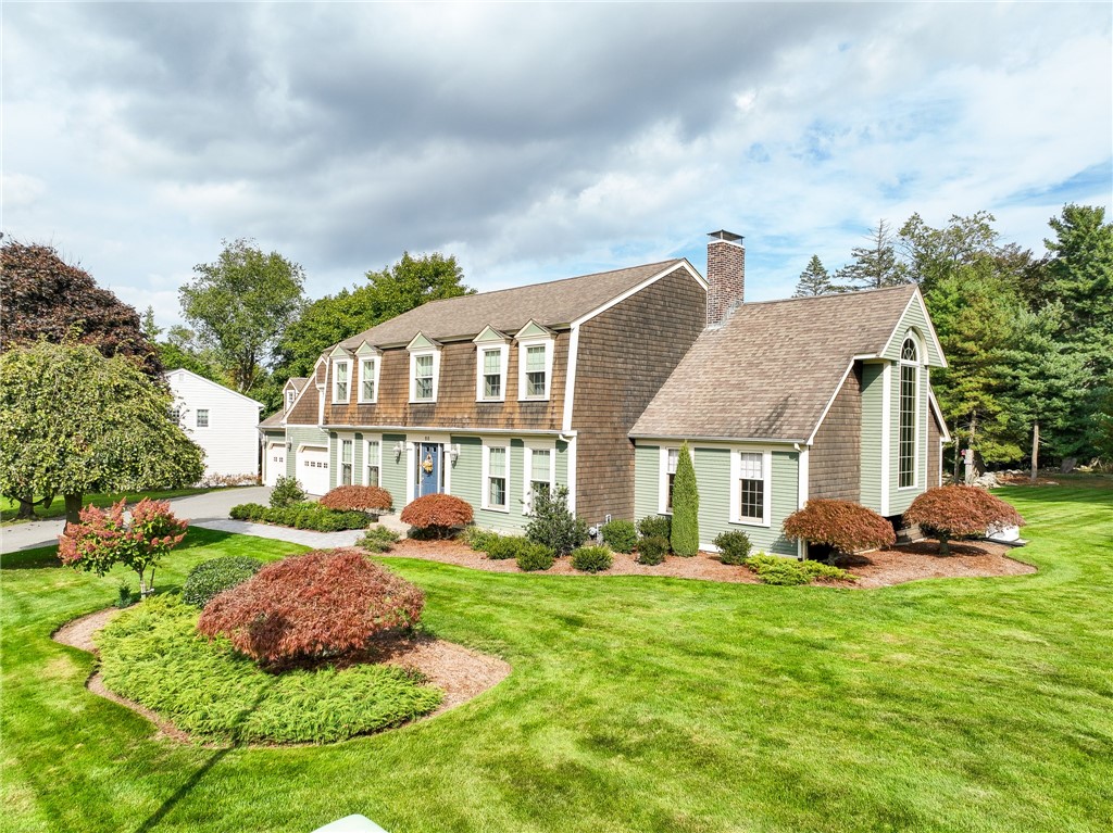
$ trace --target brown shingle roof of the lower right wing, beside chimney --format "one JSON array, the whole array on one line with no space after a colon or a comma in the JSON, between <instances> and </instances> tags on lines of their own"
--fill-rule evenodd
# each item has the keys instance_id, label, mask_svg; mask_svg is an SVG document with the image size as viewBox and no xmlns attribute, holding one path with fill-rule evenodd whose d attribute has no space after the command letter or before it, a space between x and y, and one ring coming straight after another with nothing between
<instances>
[{"instance_id":1,"label":"brown shingle roof of the lower right wing, beside chimney","mask_svg":"<svg viewBox=\"0 0 1113 833\"><path fill-rule=\"evenodd\" d=\"M854 360L887 357L922 309L914 285L742 304L696 339L630 436L806 443ZM943 366L926 329L927 364Z\"/></svg>"}]
</instances>

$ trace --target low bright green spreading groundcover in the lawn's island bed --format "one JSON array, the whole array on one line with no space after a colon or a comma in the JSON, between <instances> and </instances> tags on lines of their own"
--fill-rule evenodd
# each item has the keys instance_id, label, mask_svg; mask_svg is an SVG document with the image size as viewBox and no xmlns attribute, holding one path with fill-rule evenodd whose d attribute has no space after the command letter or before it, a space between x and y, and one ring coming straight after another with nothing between
<instances>
[{"instance_id":1,"label":"low bright green spreading groundcover in the lawn's island bed","mask_svg":"<svg viewBox=\"0 0 1113 833\"><path fill-rule=\"evenodd\" d=\"M96 636L105 684L198 740L333 742L432 712L442 692L394 666L260 671L225 639L197 634L197 608L157 596Z\"/></svg>"}]
</instances>

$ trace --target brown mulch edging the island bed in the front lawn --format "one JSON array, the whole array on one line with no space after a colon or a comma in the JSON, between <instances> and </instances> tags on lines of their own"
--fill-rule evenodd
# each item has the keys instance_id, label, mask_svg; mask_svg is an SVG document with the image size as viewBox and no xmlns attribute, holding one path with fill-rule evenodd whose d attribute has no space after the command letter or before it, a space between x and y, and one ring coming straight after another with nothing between
<instances>
[{"instance_id":1,"label":"brown mulch edging the island bed in the front lawn","mask_svg":"<svg viewBox=\"0 0 1113 833\"><path fill-rule=\"evenodd\" d=\"M119 608L107 607L104 611L97 611L88 616L67 622L51 634L51 638L62 645L96 654L97 646L92 642L92 635L111 622L120 612ZM477 697L510 676L512 671L509 663L496 656L481 654L477 651L465 648L463 645L422 635L381 643L374 656L368 658L386 665L396 665L421 672L431 684L444 691L444 700L441 705L435 711L422 715L418 720L435 717L454 706ZM190 742L189 733L183 732L157 712L110 691L105 685L99 671L93 672L85 685L93 694L119 703L149 720L158 726L158 737L169 737L183 743ZM215 744L204 745L217 746Z\"/></svg>"}]
</instances>

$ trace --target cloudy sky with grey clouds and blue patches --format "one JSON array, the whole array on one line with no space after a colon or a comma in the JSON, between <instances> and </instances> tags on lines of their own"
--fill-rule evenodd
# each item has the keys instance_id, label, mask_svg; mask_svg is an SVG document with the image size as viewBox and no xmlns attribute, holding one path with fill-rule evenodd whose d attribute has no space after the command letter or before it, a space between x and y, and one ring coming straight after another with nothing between
<instances>
[{"instance_id":1,"label":"cloudy sky with grey clouds and blue patches","mask_svg":"<svg viewBox=\"0 0 1113 833\"><path fill-rule=\"evenodd\" d=\"M746 236L789 295L880 218L1043 249L1113 191L1097 3L0 6L3 231L162 324L221 238L312 297L403 250L495 289Z\"/></svg>"}]
</instances>

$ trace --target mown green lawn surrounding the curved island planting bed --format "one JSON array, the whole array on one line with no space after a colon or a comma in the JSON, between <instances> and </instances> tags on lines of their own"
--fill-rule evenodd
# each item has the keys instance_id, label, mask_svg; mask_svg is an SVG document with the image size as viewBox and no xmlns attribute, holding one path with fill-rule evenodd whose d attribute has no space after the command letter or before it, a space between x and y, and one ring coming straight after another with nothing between
<instances>
[{"instance_id":1,"label":"mown green lawn surrounding the curved island planting bed","mask_svg":"<svg viewBox=\"0 0 1113 833\"><path fill-rule=\"evenodd\" d=\"M1033 575L884 589L385 558L511 676L331 746L207 750L82 688L49 639L105 579L3 559L3 831L1109 831L1113 490L1001 492ZM191 529L160 575L295 547Z\"/></svg>"}]
</instances>

